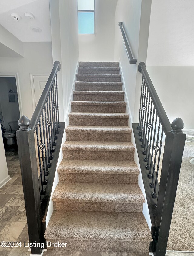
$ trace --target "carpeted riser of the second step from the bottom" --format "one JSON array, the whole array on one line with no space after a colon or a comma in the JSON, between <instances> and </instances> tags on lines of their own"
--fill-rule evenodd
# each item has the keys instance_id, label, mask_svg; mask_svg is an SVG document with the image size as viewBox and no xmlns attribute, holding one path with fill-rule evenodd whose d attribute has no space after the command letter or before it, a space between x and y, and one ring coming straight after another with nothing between
<instances>
[{"instance_id":1,"label":"carpeted riser of the second step from the bottom","mask_svg":"<svg viewBox=\"0 0 194 256\"><path fill-rule=\"evenodd\" d=\"M54 211L94 211L141 213L142 203L102 203L102 202L53 202Z\"/></svg>"}]
</instances>

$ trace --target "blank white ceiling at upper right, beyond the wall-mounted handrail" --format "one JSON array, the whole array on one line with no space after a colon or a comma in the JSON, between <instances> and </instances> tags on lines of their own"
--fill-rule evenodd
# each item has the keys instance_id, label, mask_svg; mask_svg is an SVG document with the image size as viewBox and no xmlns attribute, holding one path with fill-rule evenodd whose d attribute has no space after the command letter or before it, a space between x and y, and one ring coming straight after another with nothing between
<instances>
[{"instance_id":1,"label":"blank white ceiling at upper right, beyond the wall-mounted handrail","mask_svg":"<svg viewBox=\"0 0 194 256\"><path fill-rule=\"evenodd\" d=\"M152 1L148 66L194 66L194 0Z\"/></svg>"}]
</instances>

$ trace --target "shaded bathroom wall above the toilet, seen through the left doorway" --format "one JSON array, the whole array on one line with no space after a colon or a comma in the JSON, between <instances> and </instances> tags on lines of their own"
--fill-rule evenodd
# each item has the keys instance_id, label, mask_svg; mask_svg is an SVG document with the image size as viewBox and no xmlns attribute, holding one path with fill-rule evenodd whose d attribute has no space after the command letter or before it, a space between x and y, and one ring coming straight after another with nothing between
<instances>
[{"instance_id":1,"label":"shaded bathroom wall above the toilet, seen through the left doorway","mask_svg":"<svg viewBox=\"0 0 194 256\"><path fill-rule=\"evenodd\" d=\"M20 118L17 93L8 93L9 90L17 92L15 77L0 77L0 104L5 129L10 129L10 121L18 121ZM9 102L9 94L15 95L15 102Z\"/></svg>"}]
</instances>

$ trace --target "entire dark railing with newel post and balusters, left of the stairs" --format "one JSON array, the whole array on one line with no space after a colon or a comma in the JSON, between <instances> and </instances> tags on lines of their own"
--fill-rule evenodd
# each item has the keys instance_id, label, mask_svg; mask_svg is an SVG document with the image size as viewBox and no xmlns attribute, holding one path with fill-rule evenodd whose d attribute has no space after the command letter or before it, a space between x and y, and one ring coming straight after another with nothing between
<instances>
[{"instance_id":1,"label":"entire dark railing with newel post and balusters, left of the stairs","mask_svg":"<svg viewBox=\"0 0 194 256\"><path fill-rule=\"evenodd\" d=\"M44 242L45 216L48 210L65 123L59 122L57 72L52 72L31 120L21 116L16 132L29 241ZM38 161L37 161L38 156ZM31 247L31 254L41 254L40 246Z\"/></svg>"}]
</instances>

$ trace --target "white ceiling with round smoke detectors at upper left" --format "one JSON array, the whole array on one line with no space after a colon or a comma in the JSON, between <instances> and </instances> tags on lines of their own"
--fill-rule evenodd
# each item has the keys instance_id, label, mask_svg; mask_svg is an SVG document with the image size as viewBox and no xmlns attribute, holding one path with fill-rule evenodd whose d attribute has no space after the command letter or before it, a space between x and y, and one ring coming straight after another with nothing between
<instances>
[{"instance_id":1,"label":"white ceiling with round smoke detectors at upper left","mask_svg":"<svg viewBox=\"0 0 194 256\"><path fill-rule=\"evenodd\" d=\"M22 42L50 42L51 25L49 0L0 0L0 24ZM17 13L22 19L15 21L11 13ZM31 12L34 20L24 19L24 13ZM30 27L39 27L34 32Z\"/></svg>"}]
</instances>

